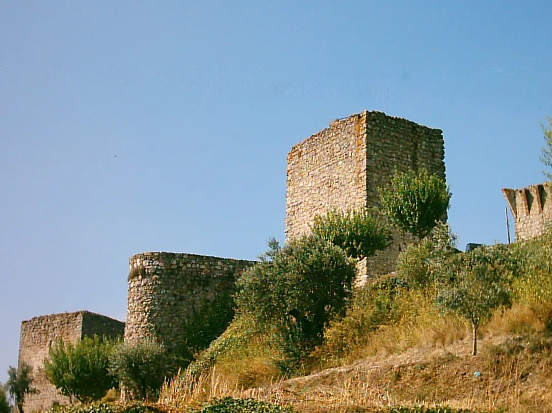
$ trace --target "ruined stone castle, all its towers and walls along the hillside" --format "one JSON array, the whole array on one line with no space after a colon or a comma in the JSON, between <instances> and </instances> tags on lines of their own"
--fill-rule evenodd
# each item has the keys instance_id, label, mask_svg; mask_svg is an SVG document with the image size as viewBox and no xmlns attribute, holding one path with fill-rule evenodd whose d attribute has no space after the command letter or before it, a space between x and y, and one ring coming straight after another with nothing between
<instances>
[{"instance_id":1,"label":"ruined stone castle, all its towers and walls along the hillside","mask_svg":"<svg viewBox=\"0 0 552 413\"><path fill-rule=\"evenodd\" d=\"M305 233L315 214L328 208L377 207L378 187L395 169L419 168L445 178L442 131L377 111L363 111L332 122L296 144L288 154L286 238ZM512 211L516 211L517 237L536 234L544 221L541 216L550 216L552 210L552 200L546 201L548 187L503 191ZM393 271L404 242L394 233L389 249L368 262L360 262L360 281ZM137 254L130 258L126 324L86 311L23 321L18 362L31 366L40 391L27 396L25 410L43 410L54 402L68 402L44 377L43 360L55 340L61 337L76 341L85 335L105 334L124 335L125 341L132 342L150 336L177 351L188 340L186 332L198 324L212 335L207 339L214 339L222 332L217 328L224 328L232 318L229 296L235 280L251 265L254 261L194 254ZM205 324L209 315L219 321L213 331Z\"/></svg>"}]
</instances>

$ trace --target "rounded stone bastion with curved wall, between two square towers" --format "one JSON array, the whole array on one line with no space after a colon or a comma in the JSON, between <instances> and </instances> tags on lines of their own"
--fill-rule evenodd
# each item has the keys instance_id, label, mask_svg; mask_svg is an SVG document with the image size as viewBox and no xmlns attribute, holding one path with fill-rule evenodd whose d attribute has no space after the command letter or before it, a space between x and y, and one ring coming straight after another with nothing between
<instances>
[{"instance_id":1,"label":"rounded stone bastion with curved wall, between two square towers","mask_svg":"<svg viewBox=\"0 0 552 413\"><path fill-rule=\"evenodd\" d=\"M227 305L236 278L253 263L162 252L132 256L125 342L155 337L178 351L185 345L187 327L217 305ZM213 339L220 332L213 331Z\"/></svg>"}]
</instances>

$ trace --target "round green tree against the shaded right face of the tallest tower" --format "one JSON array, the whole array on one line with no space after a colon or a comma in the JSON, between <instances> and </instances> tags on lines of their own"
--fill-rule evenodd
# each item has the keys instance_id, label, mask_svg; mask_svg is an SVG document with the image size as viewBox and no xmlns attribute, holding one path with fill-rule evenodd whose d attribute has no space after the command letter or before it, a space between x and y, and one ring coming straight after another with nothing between
<instances>
[{"instance_id":1,"label":"round green tree against the shaded right face of the tallest tower","mask_svg":"<svg viewBox=\"0 0 552 413\"><path fill-rule=\"evenodd\" d=\"M450 190L444 180L427 170L395 172L380 188L381 207L390 223L409 232L418 241L426 237L444 217L450 202Z\"/></svg>"}]
</instances>

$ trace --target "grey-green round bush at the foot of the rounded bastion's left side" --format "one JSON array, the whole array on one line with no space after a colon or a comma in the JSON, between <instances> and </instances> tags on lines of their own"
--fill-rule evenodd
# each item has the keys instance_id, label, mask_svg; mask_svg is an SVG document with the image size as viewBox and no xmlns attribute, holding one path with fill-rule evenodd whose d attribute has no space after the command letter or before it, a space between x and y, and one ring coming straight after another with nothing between
<instances>
[{"instance_id":1,"label":"grey-green round bush at the foot of the rounded bastion's left side","mask_svg":"<svg viewBox=\"0 0 552 413\"><path fill-rule=\"evenodd\" d=\"M174 361L155 340L121 343L109 357L110 372L130 395L156 399L165 379L172 376Z\"/></svg>"}]
</instances>

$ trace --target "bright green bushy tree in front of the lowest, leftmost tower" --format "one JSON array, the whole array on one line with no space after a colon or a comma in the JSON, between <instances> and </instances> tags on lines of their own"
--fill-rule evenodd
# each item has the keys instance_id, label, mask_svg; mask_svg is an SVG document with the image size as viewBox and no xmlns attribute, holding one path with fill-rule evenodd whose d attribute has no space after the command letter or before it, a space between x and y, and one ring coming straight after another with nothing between
<instances>
[{"instance_id":1,"label":"bright green bushy tree in front of the lowest, leftmost tower","mask_svg":"<svg viewBox=\"0 0 552 413\"><path fill-rule=\"evenodd\" d=\"M76 345L59 340L50 347L50 358L44 360L46 378L61 394L81 403L99 400L118 385L117 378L109 372L109 355L114 346L114 341L98 335L84 337Z\"/></svg>"}]
</instances>

